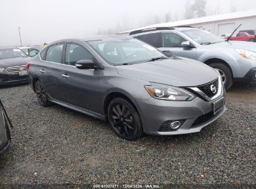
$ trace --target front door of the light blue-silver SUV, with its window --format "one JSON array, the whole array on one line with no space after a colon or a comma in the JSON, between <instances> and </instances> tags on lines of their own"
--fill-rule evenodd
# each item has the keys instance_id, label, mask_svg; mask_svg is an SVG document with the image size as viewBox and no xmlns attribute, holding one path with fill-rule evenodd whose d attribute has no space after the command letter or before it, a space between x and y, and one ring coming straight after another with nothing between
<instances>
[{"instance_id":1,"label":"front door of the light blue-silver SUV, with its window","mask_svg":"<svg viewBox=\"0 0 256 189\"><path fill-rule=\"evenodd\" d=\"M183 48L182 42L188 41L175 32L161 32L161 48L163 52L170 52L176 57L186 57L196 60L196 48Z\"/></svg>"}]
</instances>

